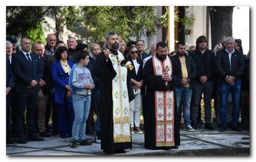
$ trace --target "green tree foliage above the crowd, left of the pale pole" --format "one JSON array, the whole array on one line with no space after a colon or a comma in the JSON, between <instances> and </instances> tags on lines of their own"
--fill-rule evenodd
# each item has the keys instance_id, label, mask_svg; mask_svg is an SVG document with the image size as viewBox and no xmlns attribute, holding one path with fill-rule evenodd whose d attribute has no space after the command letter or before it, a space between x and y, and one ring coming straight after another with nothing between
<instances>
[{"instance_id":1,"label":"green tree foliage above the crowd, left of the pale pole","mask_svg":"<svg viewBox=\"0 0 256 162\"><path fill-rule=\"evenodd\" d=\"M150 6L12 6L6 12L7 35L41 34L38 24L46 22L44 17L49 16L55 20L57 37L67 27L82 37L88 36L90 42L104 40L108 31L116 31L126 42L131 36L150 36L155 33L157 21L154 7Z\"/></svg>"}]
</instances>

